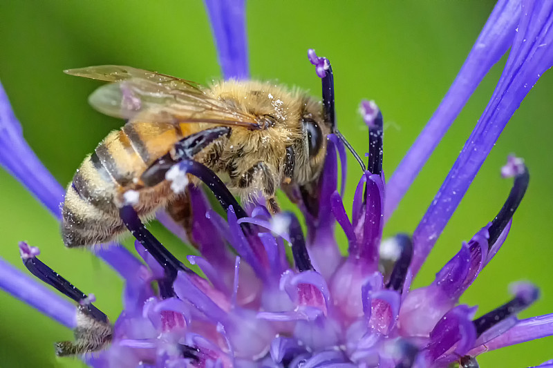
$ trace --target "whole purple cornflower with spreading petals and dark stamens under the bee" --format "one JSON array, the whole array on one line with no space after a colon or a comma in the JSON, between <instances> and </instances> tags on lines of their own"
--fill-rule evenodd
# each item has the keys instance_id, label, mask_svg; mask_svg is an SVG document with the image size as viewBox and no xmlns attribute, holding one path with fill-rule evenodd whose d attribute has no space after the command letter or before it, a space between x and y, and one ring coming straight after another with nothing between
<instances>
[{"instance_id":1,"label":"whole purple cornflower with spreading petals and dark stamens under the bee","mask_svg":"<svg viewBox=\"0 0 553 368\"><path fill-rule=\"evenodd\" d=\"M207 0L206 5L225 77L247 77L244 1ZM58 352L97 351L83 356L92 367L447 367L452 362L477 367L475 357L482 352L553 335L553 314L516 318L538 298L532 284L513 284L512 300L492 311L477 313L476 307L458 304L505 242L523 199L529 173L518 157L509 157L501 169L514 182L498 215L462 244L431 284L411 288L501 130L553 65L552 23L550 1L498 1L451 90L387 184L382 114L364 101L367 169L355 190L351 219L337 191L336 151L343 159L345 150L336 130L328 137L324 172L313 193L317 202L300 205L306 237L294 215L271 217L259 204L243 209L205 166L183 161L176 171L207 183L226 211L221 217L200 188L189 188L194 209L189 241L202 254L189 261L207 279L169 253L126 205L120 215L144 263L117 244L97 251L126 280L124 310L113 325L94 307L92 295L57 275L28 244L19 244L26 267L76 306L1 260L0 287L73 329L75 342L59 343ZM508 48L494 95L413 237L382 240L385 219ZM330 62L313 50L308 58L321 77L326 113L334 122ZM64 191L30 151L3 90L0 163L59 217ZM336 222L348 240L345 258L334 236Z\"/></svg>"}]
</instances>

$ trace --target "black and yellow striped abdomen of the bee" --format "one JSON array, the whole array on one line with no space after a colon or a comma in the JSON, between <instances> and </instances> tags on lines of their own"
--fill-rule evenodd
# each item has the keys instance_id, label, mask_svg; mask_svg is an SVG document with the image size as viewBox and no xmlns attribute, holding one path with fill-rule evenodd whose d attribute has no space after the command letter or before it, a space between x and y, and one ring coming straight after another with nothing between
<instances>
[{"instance_id":1,"label":"black and yellow striped abdomen of the bee","mask_svg":"<svg viewBox=\"0 0 553 368\"><path fill-rule=\"evenodd\" d=\"M68 185L62 208L66 246L109 242L125 231L117 204L140 175L198 124L132 122L111 133L84 159ZM174 200L167 182L142 188L135 210L141 217Z\"/></svg>"}]
</instances>

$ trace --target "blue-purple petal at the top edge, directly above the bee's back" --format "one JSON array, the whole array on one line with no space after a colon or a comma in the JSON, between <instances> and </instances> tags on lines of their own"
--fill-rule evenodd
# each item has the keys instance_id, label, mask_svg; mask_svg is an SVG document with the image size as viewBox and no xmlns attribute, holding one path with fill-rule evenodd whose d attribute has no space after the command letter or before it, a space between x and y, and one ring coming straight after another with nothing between
<instances>
[{"instance_id":1,"label":"blue-purple petal at the top edge, directly above the bee's back","mask_svg":"<svg viewBox=\"0 0 553 368\"><path fill-rule=\"evenodd\" d=\"M247 79L245 0L205 0L225 79Z\"/></svg>"}]
</instances>

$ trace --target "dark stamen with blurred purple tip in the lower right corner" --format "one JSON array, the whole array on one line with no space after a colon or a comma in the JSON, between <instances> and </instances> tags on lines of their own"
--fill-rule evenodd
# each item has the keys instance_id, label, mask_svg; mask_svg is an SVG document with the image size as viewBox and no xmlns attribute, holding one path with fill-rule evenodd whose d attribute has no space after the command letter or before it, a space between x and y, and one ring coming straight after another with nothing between
<instances>
[{"instance_id":1,"label":"dark stamen with blurred purple tip in the lower right corner","mask_svg":"<svg viewBox=\"0 0 553 368\"><path fill-rule=\"evenodd\" d=\"M510 316L523 311L539 297L538 288L532 284L516 284L514 289L516 295L511 301L473 321L477 336L482 335L482 333Z\"/></svg>"}]
</instances>

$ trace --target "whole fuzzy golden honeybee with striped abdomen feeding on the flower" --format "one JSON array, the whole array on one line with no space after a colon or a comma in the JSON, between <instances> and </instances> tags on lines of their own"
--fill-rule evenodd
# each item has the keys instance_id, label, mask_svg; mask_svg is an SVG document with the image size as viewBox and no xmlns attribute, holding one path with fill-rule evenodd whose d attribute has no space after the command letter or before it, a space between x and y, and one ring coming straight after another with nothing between
<instances>
[{"instance_id":1,"label":"whole fuzzy golden honeybee with striped abdomen feeding on the flower","mask_svg":"<svg viewBox=\"0 0 553 368\"><path fill-rule=\"evenodd\" d=\"M165 175L149 175L149 168L160 157L182 155L182 144L241 200L261 192L272 213L279 211L277 188L309 186L321 173L332 124L321 102L299 90L259 81L201 86L128 66L66 73L110 82L89 101L126 119L84 159L67 187L66 246L109 242L123 233L118 206L128 191L138 193L133 207L140 217L162 208L178 217L185 195L172 190Z\"/></svg>"}]
</instances>

